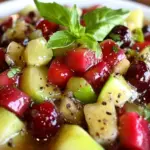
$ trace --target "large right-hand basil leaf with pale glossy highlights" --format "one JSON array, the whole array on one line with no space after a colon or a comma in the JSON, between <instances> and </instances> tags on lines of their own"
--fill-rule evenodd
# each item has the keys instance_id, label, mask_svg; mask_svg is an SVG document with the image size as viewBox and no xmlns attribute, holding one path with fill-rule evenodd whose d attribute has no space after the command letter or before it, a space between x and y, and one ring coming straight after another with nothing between
<instances>
[{"instance_id":1,"label":"large right-hand basil leaf with pale glossy highlights","mask_svg":"<svg viewBox=\"0 0 150 150\"><path fill-rule=\"evenodd\" d=\"M86 33L97 41L102 41L107 34L127 18L129 12L123 9L113 10L107 7L98 8L84 16Z\"/></svg>"}]
</instances>

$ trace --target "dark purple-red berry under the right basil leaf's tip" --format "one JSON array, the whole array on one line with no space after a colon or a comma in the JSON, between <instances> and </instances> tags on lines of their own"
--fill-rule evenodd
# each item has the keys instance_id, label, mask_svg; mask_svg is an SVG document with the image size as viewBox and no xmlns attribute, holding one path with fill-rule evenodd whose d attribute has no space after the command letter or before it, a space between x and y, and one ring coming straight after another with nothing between
<instances>
[{"instance_id":1,"label":"dark purple-red berry under the right basil leaf's tip","mask_svg":"<svg viewBox=\"0 0 150 150\"><path fill-rule=\"evenodd\" d=\"M121 48L129 47L131 44L131 32L126 26L123 25L115 26L107 38L120 42Z\"/></svg>"}]
</instances>

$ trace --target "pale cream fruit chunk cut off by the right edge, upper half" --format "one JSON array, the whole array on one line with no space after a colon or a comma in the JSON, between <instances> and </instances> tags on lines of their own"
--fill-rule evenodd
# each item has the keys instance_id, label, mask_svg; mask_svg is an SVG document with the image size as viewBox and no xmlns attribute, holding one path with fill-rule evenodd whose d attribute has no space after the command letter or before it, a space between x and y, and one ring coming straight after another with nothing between
<instances>
[{"instance_id":1,"label":"pale cream fruit chunk cut off by the right edge, upper half","mask_svg":"<svg viewBox=\"0 0 150 150\"><path fill-rule=\"evenodd\" d=\"M139 53L139 59L144 61L150 68L150 46L146 47Z\"/></svg>"}]
</instances>

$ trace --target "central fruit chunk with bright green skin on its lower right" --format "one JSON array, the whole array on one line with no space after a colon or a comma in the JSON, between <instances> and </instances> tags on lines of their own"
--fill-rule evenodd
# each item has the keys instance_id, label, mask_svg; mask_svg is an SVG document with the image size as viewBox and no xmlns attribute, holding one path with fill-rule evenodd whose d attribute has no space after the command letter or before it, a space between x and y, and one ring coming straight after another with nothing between
<instances>
[{"instance_id":1,"label":"central fruit chunk with bright green skin on its lower right","mask_svg":"<svg viewBox=\"0 0 150 150\"><path fill-rule=\"evenodd\" d=\"M70 78L67 83L67 91L73 92L74 97L82 103L93 103L96 101L96 94L93 88L84 78Z\"/></svg>"}]
</instances>

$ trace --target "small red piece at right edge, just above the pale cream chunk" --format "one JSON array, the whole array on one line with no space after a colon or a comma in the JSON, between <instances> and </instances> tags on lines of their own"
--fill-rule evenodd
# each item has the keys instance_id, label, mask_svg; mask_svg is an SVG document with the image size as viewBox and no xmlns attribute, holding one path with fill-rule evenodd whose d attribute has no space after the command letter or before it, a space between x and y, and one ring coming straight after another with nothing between
<instances>
[{"instance_id":1,"label":"small red piece at right edge, just above the pale cream chunk","mask_svg":"<svg viewBox=\"0 0 150 150\"><path fill-rule=\"evenodd\" d=\"M145 41L145 42L137 42L132 46L132 49L137 50L137 51L142 51L144 48L150 46L150 42L149 41Z\"/></svg>"}]
</instances>

